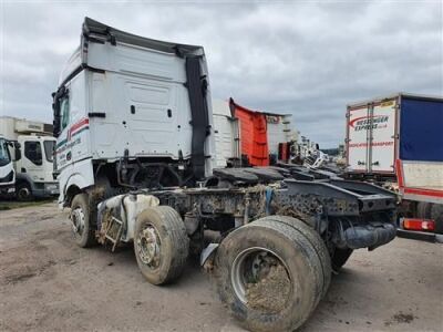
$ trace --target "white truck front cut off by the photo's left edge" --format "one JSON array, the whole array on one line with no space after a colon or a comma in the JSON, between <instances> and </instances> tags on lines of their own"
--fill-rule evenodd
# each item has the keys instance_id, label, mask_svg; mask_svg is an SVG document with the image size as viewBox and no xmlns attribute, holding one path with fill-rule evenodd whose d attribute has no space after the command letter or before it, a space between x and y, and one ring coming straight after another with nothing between
<instances>
[{"instance_id":1,"label":"white truck front cut off by the photo's left edge","mask_svg":"<svg viewBox=\"0 0 443 332\"><path fill-rule=\"evenodd\" d=\"M11 145L13 143L0 136L0 197L12 197L16 193L16 170L9 152Z\"/></svg>"}]
</instances>

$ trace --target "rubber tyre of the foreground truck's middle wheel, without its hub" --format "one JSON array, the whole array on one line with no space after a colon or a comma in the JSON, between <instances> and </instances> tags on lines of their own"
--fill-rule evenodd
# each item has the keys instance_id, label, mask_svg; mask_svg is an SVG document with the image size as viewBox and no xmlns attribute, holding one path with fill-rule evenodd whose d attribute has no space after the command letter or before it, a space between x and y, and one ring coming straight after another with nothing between
<instances>
[{"instance_id":1,"label":"rubber tyre of the foreground truck's middle wheel, without its hub","mask_svg":"<svg viewBox=\"0 0 443 332\"><path fill-rule=\"evenodd\" d=\"M152 217L155 215L156 217ZM166 234L167 234L167 239L163 240L169 240L171 241L171 252L166 252L168 257L166 258L167 261L169 262L167 264L167 270L165 271L164 269L158 272L158 278L154 278L152 276L145 274L146 267L144 267L143 262L140 261L137 252L135 252L136 259L138 267L142 271L142 274L147 279L153 284L166 284L175 281L183 272L183 269L186 264L187 257L188 257L188 251L189 251L189 239L186 234L186 228L185 224L183 222L181 216L178 212L173 209L172 207L168 206L157 206L153 208L148 208L138 216L138 218L158 218L158 220L152 219L152 224L158 224L159 225L154 225L155 228L157 229L157 232L159 232L158 228L163 228ZM140 227L138 225L138 218L136 221L135 226L135 234L134 234L134 241L136 240L137 237L137 229ZM136 245L134 243L134 250L136 250ZM150 271L150 270L147 270ZM166 273L166 274L165 274Z\"/></svg>"}]
</instances>

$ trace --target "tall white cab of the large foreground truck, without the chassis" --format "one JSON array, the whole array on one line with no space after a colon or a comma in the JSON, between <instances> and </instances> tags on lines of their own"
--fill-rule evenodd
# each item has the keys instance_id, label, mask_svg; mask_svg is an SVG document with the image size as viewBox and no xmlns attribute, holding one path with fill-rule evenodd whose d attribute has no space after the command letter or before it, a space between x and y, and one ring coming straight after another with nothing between
<instances>
[{"instance_id":1,"label":"tall white cab of the large foreground truck, without the chassis","mask_svg":"<svg viewBox=\"0 0 443 332\"><path fill-rule=\"evenodd\" d=\"M212 174L214 129L202 46L133 35L85 19L53 93L59 203L195 184Z\"/></svg>"}]
</instances>

